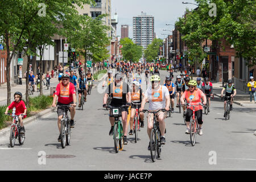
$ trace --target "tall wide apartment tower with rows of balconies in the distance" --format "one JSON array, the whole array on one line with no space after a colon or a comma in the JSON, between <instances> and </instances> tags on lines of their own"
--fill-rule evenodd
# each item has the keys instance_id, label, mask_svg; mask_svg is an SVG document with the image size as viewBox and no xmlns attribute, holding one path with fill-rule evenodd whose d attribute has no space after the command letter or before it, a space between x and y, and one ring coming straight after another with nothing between
<instances>
[{"instance_id":1,"label":"tall wide apartment tower with rows of balconies in the distance","mask_svg":"<svg viewBox=\"0 0 256 182\"><path fill-rule=\"evenodd\" d=\"M154 40L154 27L154 16L142 12L141 15L133 17L134 43L146 49Z\"/></svg>"}]
</instances>

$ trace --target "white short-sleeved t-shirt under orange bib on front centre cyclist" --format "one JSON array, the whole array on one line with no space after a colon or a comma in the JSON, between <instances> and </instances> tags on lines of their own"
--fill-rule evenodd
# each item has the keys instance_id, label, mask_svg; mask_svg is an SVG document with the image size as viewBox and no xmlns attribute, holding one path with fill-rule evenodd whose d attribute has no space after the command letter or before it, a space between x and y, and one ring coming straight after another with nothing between
<instances>
[{"instance_id":1,"label":"white short-sleeved t-shirt under orange bib on front centre cyclist","mask_svg":"<svg viewBox=\"0 0 256 182\"><path fill-rule=\"evenodd\" d=\"M160 89L161 85L159 86L159 89ZM158 92L158 90L155 90L155 92ZM152 102L152 87L149 86L146 93L145 93L145 97L148 98L148 101L149 101L149 107L148 107L148 110L159 110L159 109L164 109L166 107L166 96L170 97L170 94L169 94L169 90L167 89L166 86L163 86L162 85L162 102Z\"/></svg>"}]
</instances>

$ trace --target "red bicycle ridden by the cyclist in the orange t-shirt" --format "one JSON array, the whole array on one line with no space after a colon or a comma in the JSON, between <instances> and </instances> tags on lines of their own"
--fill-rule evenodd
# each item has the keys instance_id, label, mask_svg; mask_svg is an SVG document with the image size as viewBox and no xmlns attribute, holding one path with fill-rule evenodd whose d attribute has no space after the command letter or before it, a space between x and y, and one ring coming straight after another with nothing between
<instances>
[{"instance_id":1,"label":"red bicycle ridden by the cyclist in the orange t-shirt","mask_svg":"<svg viewBox=\"0 0 256 182\"><path fill-rule=\"evenodd\" d=\"M195 146L196 144L196 134L199 134L199 124L197 122L197 117L195 115L195 107L198 106L198 105L201 105L201 106L204 106L203 104L199 103L197 105L190 105L190 104L187 104L187 106L190 106L190 107L193 107L193 116L190 120L190 141L191 141L191 144L192 146Z\"/></svg>"}]
</instances>

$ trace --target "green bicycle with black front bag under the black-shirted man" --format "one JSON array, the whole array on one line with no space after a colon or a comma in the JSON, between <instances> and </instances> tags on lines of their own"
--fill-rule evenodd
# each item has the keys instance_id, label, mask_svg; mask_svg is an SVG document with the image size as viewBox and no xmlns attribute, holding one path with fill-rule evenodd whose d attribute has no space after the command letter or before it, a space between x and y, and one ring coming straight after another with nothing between
<instances>
[{"instance_id":1,"label":"green bicycle with black front bag under the black-shirted man","mask_svg":"<svg viewBox=\"0 0 256 182\"><path fill-rule=\"evenodd\" d=\"M120 107L113 107L113 106L106 106L109 107L110 110L110 117L114 117L114 148L115 153L118 153L119 150L123 150L123 126L122 126L122 107L126 107L126 105L122 105Z\"/></svg>"}]
</instances>

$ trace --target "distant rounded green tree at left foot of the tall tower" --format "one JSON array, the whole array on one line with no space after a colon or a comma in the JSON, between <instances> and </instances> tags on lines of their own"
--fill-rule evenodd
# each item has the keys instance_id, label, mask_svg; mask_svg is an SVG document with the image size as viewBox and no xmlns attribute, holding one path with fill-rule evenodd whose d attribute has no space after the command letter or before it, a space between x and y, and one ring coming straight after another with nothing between
<instances>
[{"instance_id":1,"label":"distant rounded green tree at left foot of the tall tower","mask_svg":"<svg viewBox=\"0 0 256 182\"><path fill-rule=\"evenodd\" d=\"M121 51L123 55L123 59L136 61L142 57L142 46L137 46L133 43L133 41L129 38L123 38L120 40L120 44L122 45Z\"/></svg>"}]
</instances>

